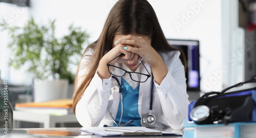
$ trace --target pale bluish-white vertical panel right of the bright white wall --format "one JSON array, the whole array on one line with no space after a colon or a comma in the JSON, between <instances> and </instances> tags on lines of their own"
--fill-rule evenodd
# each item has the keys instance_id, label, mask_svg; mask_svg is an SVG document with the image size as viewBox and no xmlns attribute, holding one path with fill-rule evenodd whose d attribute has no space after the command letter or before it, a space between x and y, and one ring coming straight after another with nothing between
<instances>
[{"instance_id":1,"label":"pale bluish-white vertical panel right of the bright white wall","mask_svg":"<svg viewBox=\"0 0 256 138\"><path fill-rule=\"evenodd\" d=\"M223 74L223 88L245 80L245 50L251 50L251 46L255 44L251 38L249 40L245 39L245 31L238 25L238 7L238 1L222 1L223 63L218 72ZM245 48L245 45L247 45L247 48Z\"/></svg>"}]
</instances>

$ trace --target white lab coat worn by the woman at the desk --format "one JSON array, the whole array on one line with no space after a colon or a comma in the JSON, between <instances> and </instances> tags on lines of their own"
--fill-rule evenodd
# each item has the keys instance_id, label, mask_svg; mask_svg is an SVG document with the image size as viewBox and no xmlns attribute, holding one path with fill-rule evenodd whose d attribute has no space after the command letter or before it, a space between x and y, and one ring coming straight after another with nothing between
<instances>
[{"instance_id":1,"label":"white lab coat worn by the woman at the desk","mask_svg":"<svg viewBox=\"0 0 256 138\"><path fill-rule=\"evenodd\" d=\"M89 50L86 54L93 54L93 51ZM168 73L160 85L154 82L152 114L156 116L156 123L153 126L147 126L143 123L143 117L149 113L150 109L152 79L148 78L146 82L140 83L139 88L138 112L141 117L141 125L145 127L182 129L183 119L187 118L189 101L186 93L184 66L179 59L180 52L166 51L159 54L168 68ZM83 63L87 61L88 57L84 57L81 60L78 85L84 74L86 74L87 70ZM144 65L151 73L150 65L146 63ZM121 82L120 77L117 78ZM113 84L116 83L111 77L101 80L96 71L90 85L76 105L76 118L83 127L113 126L114 122L110 114L112 114L113 118L116 117L120 94L118 91L111 91L112 82ZM110 113L107 107L109 107Z\"/></svg>"}]
</instances>

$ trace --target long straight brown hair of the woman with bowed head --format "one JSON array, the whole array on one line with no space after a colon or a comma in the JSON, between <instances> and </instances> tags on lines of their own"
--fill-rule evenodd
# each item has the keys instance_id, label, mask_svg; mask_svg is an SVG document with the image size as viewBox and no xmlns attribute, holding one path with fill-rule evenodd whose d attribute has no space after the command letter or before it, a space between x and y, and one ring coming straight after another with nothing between
<instances>
[{"instance_id":1,"label":"long straight brown hair of the woman with bowed head","mask_svg":"<svg viewBox=\"0 0 256 138\"><path fill-rule=\"evenodd\" d=\"M99 61L104 56L105 51L109 51L112 48L114 36L128 34L151 37L151 45L156 51L179 50L167 43L156 13L150 3L146 0L119 0L111 9L98 40L89 45L84 51L85 53L89 48L94 49L91 60L87 65L89 70L86 77L79 86L77 86L77 78L75 80L75 93L73 96L74 114L78 101L96 73ZM180 59L183 65L186 66L185 56L182 51Z\"/></svg>"}]
</instances>

